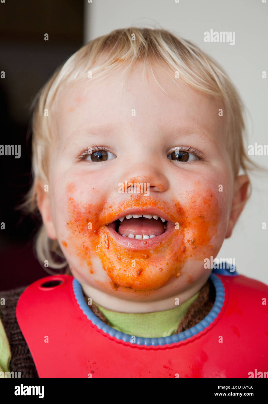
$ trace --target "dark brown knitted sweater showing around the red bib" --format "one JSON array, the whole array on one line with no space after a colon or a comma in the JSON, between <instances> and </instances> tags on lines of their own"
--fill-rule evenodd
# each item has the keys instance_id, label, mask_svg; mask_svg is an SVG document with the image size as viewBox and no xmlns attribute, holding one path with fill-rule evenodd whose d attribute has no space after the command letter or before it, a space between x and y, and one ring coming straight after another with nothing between
<instances>
[{"instance_id":1,"label":"dark brown knitted sweater showing around the red bib","mask_svg":"<svg viewBox=\"0 0 268 404\"><path fill-rule=\"evenodd\" d=\"M1 320L6 331L6 336L10 345L11 360L10 372L21 372L21 377L38 377L36 366L22 335L16 318L16 306L19 297L27 286L0 292L0 298L4 297L6 304L1 306ZM208 280L201 288L198 298L191 304L184 318L181 320L176 334L198 324L212 309L215 301L215 288L213 283ZM105 316L95 305L89 306L93 313L109 324Z\"/></svg>"}]
</instances>

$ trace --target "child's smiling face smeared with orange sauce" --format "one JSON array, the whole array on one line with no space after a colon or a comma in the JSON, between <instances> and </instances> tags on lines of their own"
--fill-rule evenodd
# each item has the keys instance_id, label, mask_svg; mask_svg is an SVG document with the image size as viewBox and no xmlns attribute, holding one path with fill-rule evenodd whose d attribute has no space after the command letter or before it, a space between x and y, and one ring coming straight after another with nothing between
<instances>
[{"instance_id":1,"label":"child's smiling face smeared with orange sauce","mask_svg":"<svg viewBox=\"0 0 268 404\"><path fill-rule=\"evenodd\" d=\"M224 106L183 83L176 86L161 67L155 72L175 98L149 71L143 82L140 69L126 80L126 90L119 89L117 72L61 91L57 109L49 112L59 143L48 156L46 213L40 209L48 236L58 239L77 280L140 301L202 285L211 272L204 259L216 257L234 224ZM94 145L109 152L94 155ZM177 161L176 147L191 150ZM149 188L122 192L125 181ZM135 213L163 217L166 231L154 218L119 221L119 233L109 226Z\"/></svg>"}]
</instances>

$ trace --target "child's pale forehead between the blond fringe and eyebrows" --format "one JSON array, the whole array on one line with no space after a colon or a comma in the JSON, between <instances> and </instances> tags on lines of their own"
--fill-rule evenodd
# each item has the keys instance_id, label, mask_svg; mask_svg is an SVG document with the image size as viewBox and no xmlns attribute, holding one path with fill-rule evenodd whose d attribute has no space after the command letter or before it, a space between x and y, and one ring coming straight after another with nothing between
<instances>
[{"instance_id":1,"label":"child's pale forehead between the blond fringe and eyebrows","mask_svg":"<svg viewBox=\"0 0 268 404\"><path fill-rule=\"evenodd\" d=\"M154 73L160 86L150 72L144 76L142 69L123 79L121 70L98 80L62 85L55 100L58 128L66 134L74 124L83 127L120 120L124 126L130 120L146 124L153 118L159 128L168 123L185 128L205 126L212 133L224 131L225 117L219 115L224 106L220 100L183 81L174 85L163 67L156 67Z\"/></svg>"}]
</instances>

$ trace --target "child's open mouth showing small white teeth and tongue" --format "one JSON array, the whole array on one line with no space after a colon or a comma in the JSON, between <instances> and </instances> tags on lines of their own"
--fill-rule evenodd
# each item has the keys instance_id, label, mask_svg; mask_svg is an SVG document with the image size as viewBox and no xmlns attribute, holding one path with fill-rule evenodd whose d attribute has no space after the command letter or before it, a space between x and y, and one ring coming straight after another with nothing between
<instances>
[{"instance_id":1,"label":"child's open mouth showing small white teeth and tongue","mask_svg":"<svg viewBox=\"0 0 268 404\"><path fill-rule=\"evenodd\" d=\"M132 213L109 223L119 236L136 240L147 240L161 236L173 223L154 213Z\"/></svg>"}]
</instances>

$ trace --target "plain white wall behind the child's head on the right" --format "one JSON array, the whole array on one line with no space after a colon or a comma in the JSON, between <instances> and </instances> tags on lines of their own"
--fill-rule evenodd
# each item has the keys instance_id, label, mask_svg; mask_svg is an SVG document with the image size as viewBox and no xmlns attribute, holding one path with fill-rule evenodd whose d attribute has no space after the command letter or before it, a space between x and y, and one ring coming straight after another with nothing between
<instances>
[{"instance_id":1,"label":"plain white wall behind the child's head on the right","mask_svg":"<svg viewBox=\"0 0 268 404\"><path fill-rule=\"evenodd\" d=\"M265 0L85 0L84 42L130 25L164 28L193 41L229 74L248 109L246 144L268 144L268 4ZM268 0L267 0L268 1ZM235 31L235 44L204 42L204 32ZM268 156L253 156L268 168ZM218 258L235 258L240 274L268 284L268 175L251 176L252 196Z\"/></svg>"}]
</instances>

